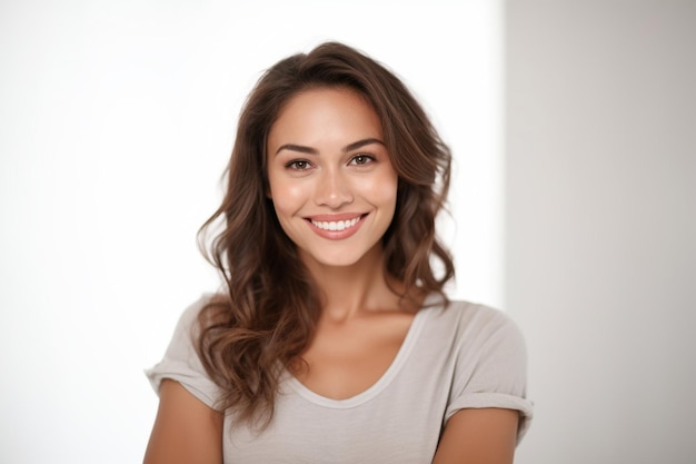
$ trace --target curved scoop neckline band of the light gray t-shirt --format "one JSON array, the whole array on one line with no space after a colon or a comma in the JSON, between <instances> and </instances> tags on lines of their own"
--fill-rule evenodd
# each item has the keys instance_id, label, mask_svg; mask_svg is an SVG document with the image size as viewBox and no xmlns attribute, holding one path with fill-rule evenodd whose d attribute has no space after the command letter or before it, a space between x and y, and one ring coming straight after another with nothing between
<instances>
[{"instance_id":1,"label":"curved scoop neckline band of the light gray t-shirt","mask_svg":"<svg viewBox=\"0 0 696 464\"><path fill-rule=\"evenodd\" d=\"M369 402L375 396L379 395L391 383L394 377L397 376L399 371L401 371L404 364L406 364L406 362L408 361L408 357L412 352L416 342L418 340L418 336L422 330L428 314L431 313L430 309L432 309L434 306L437 306L432 305L432 303L435 303L434 297L436 297L436 295L430 294L424 299L421 307L414 316L414 320L411 320L411 324L408 327L408 332L406 333L406 337L404 337L404 342L401 343L401 346L399 347L396 356L391 361L391 364L389 364L389 367L387 367L387 369L377 379L377 382L370 385L367 389L349 398L329 398L328 396L320 395L309 389L295 375L286 369L285 375L287 384L302 398L318 406L335 409L347 409Z\"/></svg>"}]
</instances>

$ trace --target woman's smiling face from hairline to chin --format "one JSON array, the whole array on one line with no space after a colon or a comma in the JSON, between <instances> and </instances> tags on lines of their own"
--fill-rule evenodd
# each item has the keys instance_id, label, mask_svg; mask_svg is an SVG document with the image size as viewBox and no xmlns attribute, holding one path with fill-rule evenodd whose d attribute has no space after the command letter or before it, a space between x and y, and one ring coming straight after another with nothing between
<instances>
[{"instance_id":1,"label":"woman's smiling face from hairline to chin","mask_svg":"<svg viewBox=\"0 0 696 464\"><path fill-rule=\"evenodd\" d=\"M381 250L398 177L365 99L347 89L298 93L267 146L268 195L302 260L350 266Z\"/></svg>"}]
</instances>

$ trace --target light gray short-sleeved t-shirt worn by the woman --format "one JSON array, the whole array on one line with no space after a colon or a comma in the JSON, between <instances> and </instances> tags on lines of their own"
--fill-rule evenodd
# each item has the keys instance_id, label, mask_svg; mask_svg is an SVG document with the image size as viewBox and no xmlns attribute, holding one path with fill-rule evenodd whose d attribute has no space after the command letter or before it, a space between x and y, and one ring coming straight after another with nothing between
<instances>
[{"instance_id":1,"label":"light gray short-sleeved t-shirt worn by the woman","mask_svg":"<svg viewBox=\"0 0 696 464\"><path fill-rule=\"evenodd\" d=\"M165 358L147 372L156 391L178 381L215 407L219 394L191 342L202 297L181 316ZM520 412L518 441L533 404L526 399L526 349L503 313L466 302L426 299L396 358L371 387L331 399L285 372L274 421L258 433L225 421L225 463L430 463L445 424L463 408Z\"/></svg>"}]
</instances>

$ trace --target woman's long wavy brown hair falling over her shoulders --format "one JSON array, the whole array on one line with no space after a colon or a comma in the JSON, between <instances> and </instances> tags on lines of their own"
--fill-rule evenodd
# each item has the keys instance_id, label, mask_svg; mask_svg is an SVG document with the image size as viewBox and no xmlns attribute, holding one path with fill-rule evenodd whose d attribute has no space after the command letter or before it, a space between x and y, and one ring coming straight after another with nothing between
<instances>
[{"instance_id":1,"label":"woman's long wavy brown hair falling over her shoulders","mask_svg":"<svg viewBox=\"0 0 696 464\"><path fill-rule=\"evenodd\" d=\"M324 43L268 69L241 111L227 168L227 192L199 231L223 292L199 316L197 348L220 386L221 409L265 425L279 375L308 347L320 313L318 289L280 228L267 192L266 144L282 106L311 88L349 88L379 116L398 180L395 217L382 238L385 272L414 290L436 292L454 276L435 217L449 187L450 152L425 111L390 71L341 43ZM216 227L217 226L217 227ZM217 229L206 248L208 233ZM431 258L439 260L439 272Z\"/></svg>"}]
</instances>

